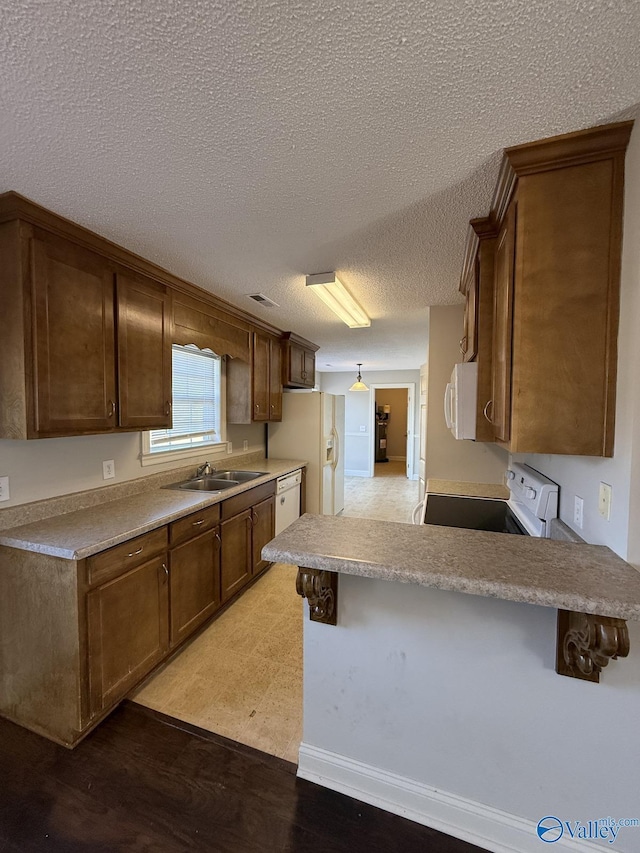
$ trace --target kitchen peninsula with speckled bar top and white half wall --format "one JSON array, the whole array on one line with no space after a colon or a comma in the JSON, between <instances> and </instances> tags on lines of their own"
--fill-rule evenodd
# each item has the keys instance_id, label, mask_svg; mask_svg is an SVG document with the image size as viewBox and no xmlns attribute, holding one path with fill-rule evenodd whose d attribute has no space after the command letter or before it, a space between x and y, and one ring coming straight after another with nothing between
<instances>
[{"instance_id":1,"label":"kitchen peninsula with speckled bar top and white half wall","mask_svg":"<svg viewBox=\"0 0 640 853\"><path fill-rule=\"evenodd\" d=\"M263 556L338 581L336 624L305 615L301 778L493 851L535 851L547 814L635 816L640 573L608 548L305 515ZM630 656L559 677L556 608L630 620Z\"/></svg>"}]
</instances>

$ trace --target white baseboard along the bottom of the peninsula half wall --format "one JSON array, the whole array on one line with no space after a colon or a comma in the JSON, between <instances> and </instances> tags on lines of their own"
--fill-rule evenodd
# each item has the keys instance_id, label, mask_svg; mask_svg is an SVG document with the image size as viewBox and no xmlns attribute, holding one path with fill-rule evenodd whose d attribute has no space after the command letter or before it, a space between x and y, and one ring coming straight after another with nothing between
<instances>
[{"instance_id":1,"label":"white baseboard along the bottom of the peninsula half wall","mask_svg":"<svg viewBox=\"0 0 640 853\"><path fill-rule=\"evenodd\" d=\"M310 744L300 744L298 776L492 853L541 853L546 846L535 821ZM565 838L552 846L553 853L603 850L601 844Z\"/></svg>"}]
</instances>

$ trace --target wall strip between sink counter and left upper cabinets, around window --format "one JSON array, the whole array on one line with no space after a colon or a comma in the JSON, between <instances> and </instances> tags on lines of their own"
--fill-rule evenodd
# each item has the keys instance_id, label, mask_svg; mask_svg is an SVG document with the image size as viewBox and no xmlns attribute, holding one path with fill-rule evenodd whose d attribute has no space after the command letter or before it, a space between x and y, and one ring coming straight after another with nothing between
<instances>
[{"instance_id":1,"label":"wall strip between sink counter and left upper cabinets, around window","mask_svg":"<svg viewBox=\"0 0 640 853\"><path fill-rule=\"evenodd\" d=\"M227 438L233 444L233 456L244 452L242 447L245 439L249 442L250 451L264 452L262 424L229 426ZM34 441L0 440L0 476L9 477L11 493L10 501L0 503L0 511L42 498L148 477L149 474L184 467L191 461L195 469L206 459L205 452L181 462L164 462L143 468L140 449L139 432ZM115 462L116 476L112 480L102 479L102 462L107 459Z\"/></svg>"}]
</instances>

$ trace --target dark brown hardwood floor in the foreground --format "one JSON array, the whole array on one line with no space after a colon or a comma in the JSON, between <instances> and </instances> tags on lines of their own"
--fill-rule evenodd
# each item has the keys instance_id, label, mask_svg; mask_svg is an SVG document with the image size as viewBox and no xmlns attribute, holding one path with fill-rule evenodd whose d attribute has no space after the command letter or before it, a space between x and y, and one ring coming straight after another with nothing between
<instances>
[{"instance_id":1,"label":"dark brown hardwood floor in the foreground","mask_svg":"<svg viewBox=\"0 0 640 853\"><path fill-rule=\"evenodd\" d=\"M75 750L0 720L0 853L478 853L125 703Z\"/></svg>"}]
</instances>

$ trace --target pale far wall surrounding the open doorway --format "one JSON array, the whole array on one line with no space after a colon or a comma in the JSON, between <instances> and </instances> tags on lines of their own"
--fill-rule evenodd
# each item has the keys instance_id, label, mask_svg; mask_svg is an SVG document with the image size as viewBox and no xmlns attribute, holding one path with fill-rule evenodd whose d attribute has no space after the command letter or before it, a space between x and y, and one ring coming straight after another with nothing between
<instances>
[{"instance_id":1,"label":"pale far wall surrounding the open doorway","mask_svg":"<svg viewBox=\"0 0 640 853\"><path fill-rule=\"evenodd\" d=\"M368 477L373 457L374 436L371 422L371 392L352 391L349 388L356 380L355 373L319 373L318 387L329 394L345 395L345 473L347 476ZM365 371L363 382L368 385L415 385L413 477L417 477L418 465L418 393L420 390L419 370L376 370ZM365 430L361 431L360 427Z\"/></svg>"}]
</instances>

